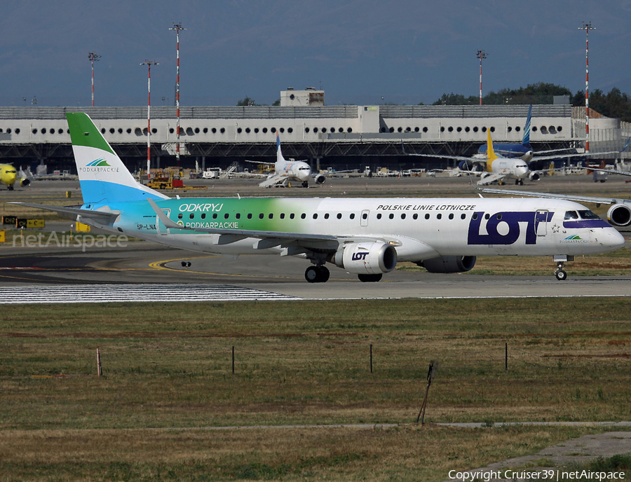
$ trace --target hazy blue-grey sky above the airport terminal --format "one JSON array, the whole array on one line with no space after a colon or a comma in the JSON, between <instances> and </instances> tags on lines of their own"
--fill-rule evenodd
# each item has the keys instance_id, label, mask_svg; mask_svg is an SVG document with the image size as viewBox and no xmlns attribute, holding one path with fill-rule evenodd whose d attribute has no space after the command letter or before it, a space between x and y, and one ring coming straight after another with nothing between
<instances>
[{"instance_id":1,"label":"hazy blue-grey sky above the airport terminal","mask_svg":"<svg viewBox=\"0 0 631 482\"><path fill-rule=\"evenodd\" d=\"M323 88L337 104L429 104L530 83L631 95L631 0L225 0L5 2L0 16L0 105L175 102L174 23L182 105L271 104L287 87ZM382 97L384 100L382 100Z\"/></svg>"}]
</instances>

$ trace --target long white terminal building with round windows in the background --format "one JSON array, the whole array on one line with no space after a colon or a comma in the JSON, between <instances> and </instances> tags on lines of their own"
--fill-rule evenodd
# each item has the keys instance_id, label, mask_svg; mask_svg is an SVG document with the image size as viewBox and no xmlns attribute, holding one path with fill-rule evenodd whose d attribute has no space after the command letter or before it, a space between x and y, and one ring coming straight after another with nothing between
<instances>
[{"instance_id":1,"label":"long white terminal building with round windows in the background","mask_svg":"<svg viewBox=\"0 0 631 482\"><path fill-rule=\"evenodd\" d=\"M473 156L491 132L494 142L521 142L527 105L327 106L325 92L281 92L280 106L182 106L180 165L227 167L244 160L273 161L276 135L285 158L313 167L363 170L451 167L455 162L409 153ZM147 107L0 107L0 156L15 165L74 169L66 112L86 112L131 170L147 165ZM590 151L622 149L631 125L590 118ZM152 167L175 166L175 107L151 107ZM569 104L533 105L534 151L583 149L585 109ZM628 153L623 153L628 158ZM599 156L595 156L599 158ZM613 159L616 155L602 156Z\"/></svg>"}]
</instances>

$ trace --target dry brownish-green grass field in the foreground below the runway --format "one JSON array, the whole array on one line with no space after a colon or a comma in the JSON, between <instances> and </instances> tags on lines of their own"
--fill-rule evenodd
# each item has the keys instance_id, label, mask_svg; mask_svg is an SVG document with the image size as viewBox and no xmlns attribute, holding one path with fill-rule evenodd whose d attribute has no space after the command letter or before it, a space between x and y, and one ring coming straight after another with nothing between
<instances>
[{"instance_id":1,"label":"dry brownish-green grass field in the foreground below the runway","mask_svg":"<svg viewBox=\"0 0 631 482\"><path fill-rule=\"evenodd\" d=\"M603 430L501 422L628 420L630 306L5 306L0 480L445 480ZM430 360L427 423L414 425ZM452 421L480 426L435 425ZM405 425L287 427L381 423Z\"/></svg>"}]
</instances>

